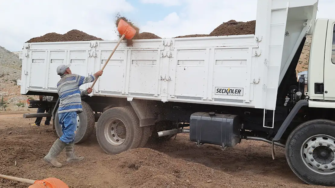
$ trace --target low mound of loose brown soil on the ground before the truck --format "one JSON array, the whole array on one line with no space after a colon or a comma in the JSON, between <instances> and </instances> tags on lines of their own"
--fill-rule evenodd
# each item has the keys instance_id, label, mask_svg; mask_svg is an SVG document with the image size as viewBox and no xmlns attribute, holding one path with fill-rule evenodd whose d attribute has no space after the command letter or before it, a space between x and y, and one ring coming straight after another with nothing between
<instances>
[{"instance_id":1,"label":"low mound of loose brown soil on the ground before the truck","mask_svg":"<svg viewBox=\"0 0 335 188\"><path fill-rule=\"evenodd\" d=\"M204 165L175 159L150 148L128 150L116 155L113 160L126 183L141 188L209 186L206 181L215 177L217 172ZM224 176L230 177L227 173Z\"/></svg>"}]
</instances>

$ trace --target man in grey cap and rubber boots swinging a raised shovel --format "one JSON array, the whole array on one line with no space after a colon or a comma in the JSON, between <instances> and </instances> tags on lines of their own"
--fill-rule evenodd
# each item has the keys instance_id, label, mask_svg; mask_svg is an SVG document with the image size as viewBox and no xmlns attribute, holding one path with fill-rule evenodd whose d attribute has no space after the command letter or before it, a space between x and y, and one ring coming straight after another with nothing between
<instances>
[{"instance_id":1,"label":"man in grey cap and rubber boots swinging a raised shovel","mask_svg":"<svg viewBox=\"0 0 335 188\"><path fill-rule=\"evenodd\" d=\"M70 64L59 65L57 74L61 79L57 83L59 95L58 117L62 126L63 135L55 141L44 160L55 167L62 167L56 157L65 148L67 162L82 161L84 157L77 157L74 154L74 138L77 128L77 114L82 113L81 97L92 92L92 88L87 88L80 92L79 86L94 81L101 76L103 71L99 70L89 76L72 74Z\"/></svg>"}]
</instances>

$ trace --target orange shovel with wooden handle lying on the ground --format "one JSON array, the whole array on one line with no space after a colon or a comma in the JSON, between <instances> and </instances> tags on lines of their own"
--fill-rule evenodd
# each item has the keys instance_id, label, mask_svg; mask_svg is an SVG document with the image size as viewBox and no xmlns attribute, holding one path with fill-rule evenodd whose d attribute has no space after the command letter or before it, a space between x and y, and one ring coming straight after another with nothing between
<instances>
[{"instance_id":1,"label":"orange shovel with wooden handle lying on the ground","mask_svg":"<svg viewBox=\"0 0 335 188\"><path fill-rule=\"evenodd\" d=\"M0 178L32 184L28 188L69 188L62 180L57 178L46 178L44 180L29 180L0 174Z\"/></svg>"}]
</instances>

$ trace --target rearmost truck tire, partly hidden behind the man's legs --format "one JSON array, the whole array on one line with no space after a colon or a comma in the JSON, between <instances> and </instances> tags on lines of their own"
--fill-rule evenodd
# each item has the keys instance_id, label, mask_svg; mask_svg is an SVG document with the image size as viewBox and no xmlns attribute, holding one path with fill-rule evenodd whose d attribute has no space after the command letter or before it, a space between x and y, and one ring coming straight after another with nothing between
<instances>
[{"instance_id":1,"label":"rearmost truck tire, partly hidden behind the man's legs","mask_svg":"<svg viewBox=\"0 0 335 188\"><path fill-rule=\"evenodd\" d=\"M93 110L91 107L84 101L81 102L83 112L77 115L77 132L74 138L74 143L82 143L86 141L94 131L95 118ZM55 130L60 138L63 135L62 127L59 125L58 111L55 115Z\"/></svg>"}]
</instances>

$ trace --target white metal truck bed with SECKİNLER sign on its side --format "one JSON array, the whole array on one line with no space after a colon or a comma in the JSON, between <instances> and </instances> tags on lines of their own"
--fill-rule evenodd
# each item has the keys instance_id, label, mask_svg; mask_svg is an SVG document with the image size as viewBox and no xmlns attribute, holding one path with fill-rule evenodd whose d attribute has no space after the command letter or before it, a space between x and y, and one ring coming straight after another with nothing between
<instances>
[{"instance_id":1,"label":"white metal truck bed with SECK\u0130NLER sign on its side","mask_svg":"<svg viewBox=\"0 0 335 188\"><path fill-rule=\"evenodd\" d=\"M274 110L278 85L313 28L317 2L259 0L255 35L122 42L90 96ZM80 75L96 72L117 42L25 43L21 94L57 93L60 64Z\"/></svg>"}]
</instances>

